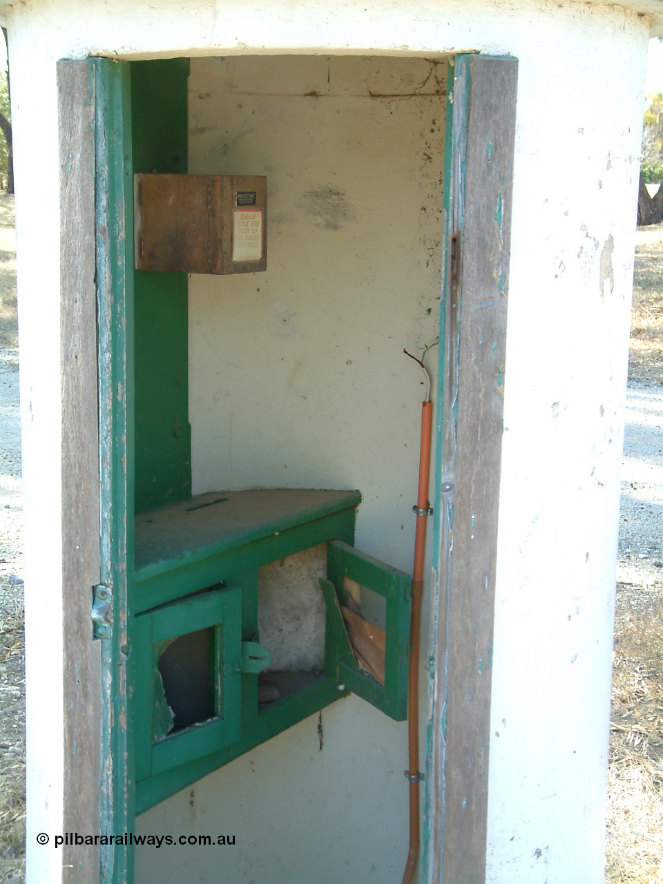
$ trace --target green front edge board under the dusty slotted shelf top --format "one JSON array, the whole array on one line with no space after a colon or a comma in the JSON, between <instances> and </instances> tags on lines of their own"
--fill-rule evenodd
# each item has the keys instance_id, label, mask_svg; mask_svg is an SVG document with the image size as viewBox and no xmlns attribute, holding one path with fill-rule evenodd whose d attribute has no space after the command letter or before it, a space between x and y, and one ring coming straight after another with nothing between
<instances>
[{"instance_id":1,"label":"green front edge board under the dusty slotted shelf top","mask_svg":"<svg viewBox=\"0 0 663 884\"><path fill-rule=\"evenodd\" d=\"M355 517L354 508L342 510L235 549L192 554L160 563L154 570L143 568L136 575L135 611L148 611L187 592L260 568L325 540L339 538L351 544Z\"/></svg>"}]
</instances>

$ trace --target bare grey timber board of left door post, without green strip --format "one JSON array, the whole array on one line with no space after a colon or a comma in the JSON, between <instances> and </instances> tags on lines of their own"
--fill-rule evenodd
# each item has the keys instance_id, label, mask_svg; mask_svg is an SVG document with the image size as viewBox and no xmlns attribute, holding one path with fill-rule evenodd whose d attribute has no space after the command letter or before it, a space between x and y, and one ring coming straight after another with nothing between
<instances>
[{"instance_id":1,"label":"bare grey timber board of left door post, without green strip","mask_svg":"<svg viewBox=\"0 0 663 884\"><path fill-rule=\"evenodd\" d=\"M98 832L100 644L91 587L99 579L95 301L95 104L88 62L57 65L62 392L63 831ZM62 848L63 881L99 880L99 848Z\"/></svg>"}]
</instances>

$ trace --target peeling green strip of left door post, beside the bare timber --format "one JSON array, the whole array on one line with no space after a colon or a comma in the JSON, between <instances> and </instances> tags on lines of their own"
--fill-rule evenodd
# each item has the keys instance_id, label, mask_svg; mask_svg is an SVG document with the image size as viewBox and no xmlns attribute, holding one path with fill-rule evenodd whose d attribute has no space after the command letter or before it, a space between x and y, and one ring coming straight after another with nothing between
<instances>
[{"instance_id":1,"label":"peeling green strip of left door post, beside the bare timber","mask_svg":"<svg viewBox=\"0 0 663 884\"><path fill-rule=\"evenodd\" d=\"M133 563L133 242L131 75L124 62L91 59L95 82L95 222L99 351L101 579L112 590L112 636L102 642L102 830L133 826L132 682L128 583ZM125 722L128 727L124 727ZM102 846L100 880L130 884L133 851Z\"/></svg>"}]
</instances>

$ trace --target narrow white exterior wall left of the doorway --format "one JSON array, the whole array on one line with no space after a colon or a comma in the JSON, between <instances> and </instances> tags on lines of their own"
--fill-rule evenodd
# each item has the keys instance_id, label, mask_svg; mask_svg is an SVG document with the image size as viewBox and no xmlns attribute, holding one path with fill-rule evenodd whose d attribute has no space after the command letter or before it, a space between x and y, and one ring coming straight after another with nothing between
<instances>
[{"instance_id":1,"label":"narrow white exterior wall left of the doorway","mask_svg":"<svg viewBox=\"0 0 663 884\"><path fill-rule=\"evenodd\" d=\"M23 544L26 606L27 863L29 879L58 881L62 857L39 846L36 835L63 828L64 700L61 585L59 168L56 59L37 52L34 67L21 65L29 50L10 53L12 130L19 276L19 357L23 471ZM23 73L20 73L20 70ZM16 83L13 73L17 71ZM45 95L40 114L33 89ZM34 107L36 111L36 107ZM41 144L36 156L37 145ZM40 187L36 187L35 163ZM43 178L42 178L43 176ZM21 183L23 182L23 183ZM42 217L46 233L34 218ZM20 245L19 245L20 243ZM38 258L35 260L35 255ZM50 439L50 444L44 441ZM67 759L68 760L68 759Z\"/></svg>"}]
</instances>

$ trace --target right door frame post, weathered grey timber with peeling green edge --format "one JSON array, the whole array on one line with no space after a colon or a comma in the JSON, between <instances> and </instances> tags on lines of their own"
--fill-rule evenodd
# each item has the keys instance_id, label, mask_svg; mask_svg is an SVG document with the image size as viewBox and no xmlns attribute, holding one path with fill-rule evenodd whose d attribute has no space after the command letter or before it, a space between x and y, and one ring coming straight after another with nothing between
<instances>
[{"instance_id":1,"label":"right door frame post, weathered grey timber with peeling green edge","mask_svg":"<svg viewBox=\"0 0 663 884\"><path fill-rule=\"evenodd\" d=\"M446 115L423 880L485 880L518 62L457 56Z\"/></svg>"}]
</instances>

